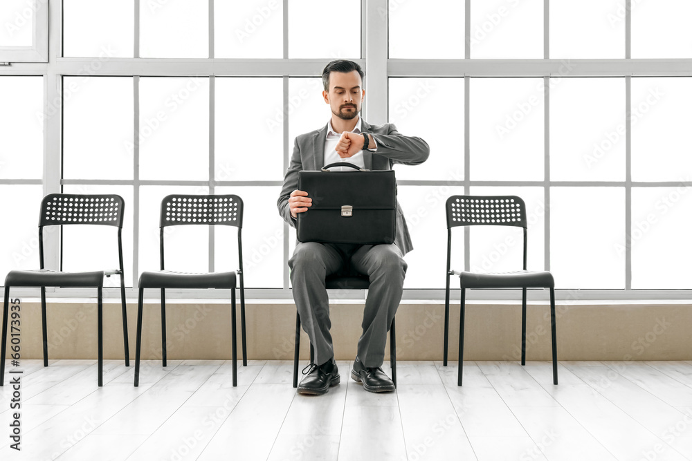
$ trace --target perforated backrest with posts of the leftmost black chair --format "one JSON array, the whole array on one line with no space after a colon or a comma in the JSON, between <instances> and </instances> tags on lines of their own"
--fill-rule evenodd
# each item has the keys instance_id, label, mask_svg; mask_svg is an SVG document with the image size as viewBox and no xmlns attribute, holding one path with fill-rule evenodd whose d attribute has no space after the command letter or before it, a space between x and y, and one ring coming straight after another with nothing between
<instances>
[{"instance_id":1,"label":"perforated backrest with posts of the leftmost black chair","mask_svg":"<svg viewBox=\"0 0 692 461\"><path fill-rule=\"evenodd\" d=\"M125 200L116 194L48 194L39 216L39 261L44 269L43 228L53 225L91 224L118 227L118 260L122 265L122 218ZM62 227L61 227L62 228ZM60 258L62 270L62 258ZM122 277L125 277L123 274Z\"/></svg>"}]
</instances>

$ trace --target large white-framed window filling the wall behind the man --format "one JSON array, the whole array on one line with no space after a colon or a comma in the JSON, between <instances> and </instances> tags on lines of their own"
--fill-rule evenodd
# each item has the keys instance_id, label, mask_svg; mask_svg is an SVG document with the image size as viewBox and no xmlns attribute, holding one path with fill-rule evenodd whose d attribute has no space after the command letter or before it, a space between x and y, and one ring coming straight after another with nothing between
<instances>
[{"instance_id":1,"label":"large white-framed window filling the wall behind the man","mask_svg":"<svg viewBox=\"0 0 692 461\"><path fill-rule=\"evenodd\" d=\"M34 14L48 15L46 2L21 21L28 3L0 7L0 23L23 24L3 28L0 53L47 43ZM237 194L249 296L290 298L295 232L276 200L295 136L329 119L322 68L347 58L365 68L363 118L430 144L426 163L395 168L415 246L405 297L444 296L453 194L524 198L529 270L551 270L558 296L689 297L687 1L54 3L48 62L0 66L0 211L13 223L1 273L37 267L35 218L48 192L125 198L132 288L158 268L165 195ZM84 270L112 256L77 256L86 234L72 230L47 237L49 267ZM455 267L520 267L520 230L455 232ZM172 270L237 266L233 228L166 238Z\"/></svg>"}]
</instances>

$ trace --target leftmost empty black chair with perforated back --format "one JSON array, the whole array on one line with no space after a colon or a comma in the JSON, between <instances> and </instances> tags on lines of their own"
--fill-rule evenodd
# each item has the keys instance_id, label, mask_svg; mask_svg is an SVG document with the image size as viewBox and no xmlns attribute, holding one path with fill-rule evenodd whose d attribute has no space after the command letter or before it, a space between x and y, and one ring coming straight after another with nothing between
<instances>
[{"instance_id":1,"label":"leftmost empty black chair with perforated back","mask_svg":"<svg viewBox=\"0 0 692 461\"><path fill-rule=\"evenodd\" d=\"M7 342L8 302L10 287L40 287L43 328L44 366L48 366L48 332L46 331L46 287L96 288L98 297L98 385L103 385L103 277L120 276L120 302L122 303L122 339L125 343L125 366L129 366L127 341L127 309L125 306L125 273L122 268L122 216L125 203L117 195L49 194L41 203L39 218L39 270L13 270L5 279L3 304L2 347L0 351L0 386L4 384L5 352ZM62 272L44 267L44 227L60 225L106 225L118 227L119 270L93 272Z\"/></svg>"}]
</instances>

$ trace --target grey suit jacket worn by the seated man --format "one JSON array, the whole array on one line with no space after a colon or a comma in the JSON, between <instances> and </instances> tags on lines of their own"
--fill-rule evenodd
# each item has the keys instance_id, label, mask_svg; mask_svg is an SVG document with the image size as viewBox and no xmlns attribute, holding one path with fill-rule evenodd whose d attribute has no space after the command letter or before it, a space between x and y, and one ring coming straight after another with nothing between
<instances>
[{"instance_id":1,"label":"grey suit jacket worn by the seated man","mask_svg":"<svg viewBox=\"0 0 692 461\"><path fill-rule=\"evenodd\" d=\"M295 220L291 218L289 197L291 192L298 189L298 171L319 170L324 166L327 126L325 124L320 130L311 131L295 138L291 164L286 170L284 185L276 203L282 218L293 227L295 227ZM367 149L363 152L365 169L392 169L392 165L396 163L417 165L428 160L430 155L428 143L421 138L401 135L394 124L385 123L374 126L361 120L361 127L364 132L372 135L377 144L376 152ZM305 212L309 213L310 210ZM394 245L397 245L403 254L413 250L411 236L408 233L408 226L399 203L397 203L397 236L394 239Z\"/></svg>"}]
</instances>

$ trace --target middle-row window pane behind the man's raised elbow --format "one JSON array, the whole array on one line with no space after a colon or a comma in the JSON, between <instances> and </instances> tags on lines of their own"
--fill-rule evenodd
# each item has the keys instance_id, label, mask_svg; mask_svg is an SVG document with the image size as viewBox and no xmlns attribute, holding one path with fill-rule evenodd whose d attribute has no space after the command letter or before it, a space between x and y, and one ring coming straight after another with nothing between
<instances>
[{"instance_id":1,"label":"middle-row window pane behind the man's raised elbow","mask_svg":"<svg viewBox=\"0 0 692 461\"><path fill-rule=\"evenodd\" d=\"M389 94L390 122L399 133L423 138L432 154L415 168L398 165L397 179L464 180L464 79L391 78ZM440 117L449 131L439 129Z\"/></svg>"}]
</instances>

